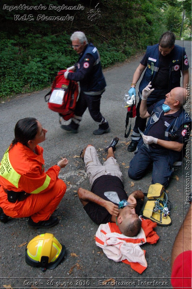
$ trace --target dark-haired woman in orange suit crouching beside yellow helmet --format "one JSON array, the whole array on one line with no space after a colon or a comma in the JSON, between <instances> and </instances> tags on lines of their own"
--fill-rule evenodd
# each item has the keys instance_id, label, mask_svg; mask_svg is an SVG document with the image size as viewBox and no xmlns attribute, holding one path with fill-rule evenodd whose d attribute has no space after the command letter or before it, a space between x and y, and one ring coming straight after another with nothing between
<instances>
[{"instance_id":1,"label":"dark-haired woman in orange suit crouching beside yellow helmet","mask_svg":"<svg viewBox=\"0 0 192 289\"><path fill-rule=\"evenodd\" d=\"M29 217L31 228L49 228L59 223L51 216L66 192L66 184L58 178L68 164L63 158L44 171L43 142L47 130L36 118L20 119L15 138L0 164L0 221Z\"/></svg>"}]
</instances>

